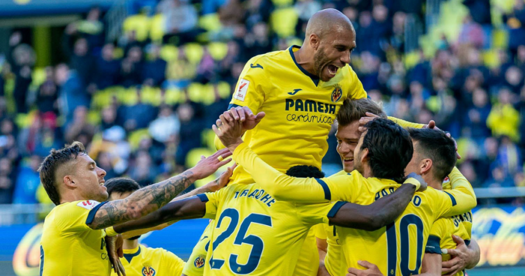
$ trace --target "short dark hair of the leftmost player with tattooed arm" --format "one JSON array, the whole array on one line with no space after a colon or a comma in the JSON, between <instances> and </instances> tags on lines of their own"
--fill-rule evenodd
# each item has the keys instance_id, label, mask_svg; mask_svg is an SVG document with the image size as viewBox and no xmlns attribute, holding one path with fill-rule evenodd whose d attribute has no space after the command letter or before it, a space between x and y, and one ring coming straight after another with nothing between
<instances>
[{"instance_id":1,"label":"short dark hair of the leftmost player with tattooed arm","mask_svg":"<svg viewBox=\"0 0 525 276\"><path fill-rule=\"evenodd\" d=\"M49 199L60 205L60 195L58 193L58 183L56 182L57 170L77 158L78 155L87 154L84 145L81 142L75 141L71 145L65 145L59 150L51 149L50 154L41 163L38 171L40 172L40 182L49 196Z\"/></svg>"}]
</instances>

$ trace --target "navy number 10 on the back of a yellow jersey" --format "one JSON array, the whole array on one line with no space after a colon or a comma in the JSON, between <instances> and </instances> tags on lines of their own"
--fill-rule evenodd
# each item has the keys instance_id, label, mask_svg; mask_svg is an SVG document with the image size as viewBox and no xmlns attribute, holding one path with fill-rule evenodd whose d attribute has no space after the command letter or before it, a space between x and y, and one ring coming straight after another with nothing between
<instances>
[{"instance_id":1,"label":"navy number 10 on the back of a yellow jersey","mask_svg":"<svg viewBox=\"0 0 525 276\"><path fill-rule=\"evenodd\" d=\"M416 267L412 270L409 268L410 261L410 238L408 234L408 226L413 224L416 227ZM421 268L421 258L423 254L423 221L415 214L407 214L399 222L400 248L401 248L401 262L400 269L402 276L410 276L419 274ZM386 226L386 247L387 247L387 275L395 276L397 268L397 238L396 238L395 222ZM413 257L414 258L414 257Z\"/></svg>"}]
</instances>

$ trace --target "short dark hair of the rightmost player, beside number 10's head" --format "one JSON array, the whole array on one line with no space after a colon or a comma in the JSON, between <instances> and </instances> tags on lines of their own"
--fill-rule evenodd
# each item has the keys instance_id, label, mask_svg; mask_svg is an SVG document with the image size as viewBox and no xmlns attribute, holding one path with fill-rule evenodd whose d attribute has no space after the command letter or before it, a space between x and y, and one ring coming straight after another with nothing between
<instances>
[{"instance_id":1,"label":"short dark hair of the rightmost player, beside number 10's head","mask_svg":"<svg viewBox=\"0 0 525 276\"><path fill-rule=\"evenodd\" d=\"M408 133L412 140L417 142L415 150L418 154L432 160L434 177L443 181L456 166L454 140L438 129L409 128Z\"/></svg>"}]
</instances>

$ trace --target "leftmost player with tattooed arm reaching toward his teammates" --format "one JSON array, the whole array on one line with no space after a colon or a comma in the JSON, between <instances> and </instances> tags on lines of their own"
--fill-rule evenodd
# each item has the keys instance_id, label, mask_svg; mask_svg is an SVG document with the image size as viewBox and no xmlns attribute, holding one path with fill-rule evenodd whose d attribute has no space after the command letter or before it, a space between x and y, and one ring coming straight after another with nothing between
<instances>
[{"instance_id":1,"label":"leftmost player with tattooed arm reaching toward his teammates","mask_svg":"<svg viewBox=\"0 0 525 276\"><path fill-rule=\"evenodd\" d=\"M110 275L110 258L120 274L123 269L114 253L115 239L105 239L103 229L161 208L195 180L229 162L231 159L219 160L229 155L227 150L217 151L178 176L107 202L106 171L97 167L80 142L51 150L39 171L49 198L57 206L44 221L40 275Z\"/></svg>"}]
</instances>

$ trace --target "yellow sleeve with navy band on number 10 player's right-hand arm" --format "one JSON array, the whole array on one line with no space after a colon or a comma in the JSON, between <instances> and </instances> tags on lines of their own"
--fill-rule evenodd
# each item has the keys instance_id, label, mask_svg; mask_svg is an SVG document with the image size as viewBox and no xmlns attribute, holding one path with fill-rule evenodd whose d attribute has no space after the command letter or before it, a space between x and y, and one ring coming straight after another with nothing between
<instances>
[{"instance_id":1,"label":"yellow sleeve with navy band on number 10 player's right-hand arm","mask_svg":"<svg viewBox=\"0 0 525 276\"><path fill-rule=\"evenodd\" d=\"M436 202L433 205L437 217L451 217L470 211L476 207L476 195L468 180L454 168L450 175L451 190L437 191Z\"/></svg>"}]
</instances>

